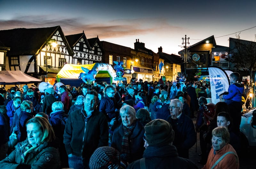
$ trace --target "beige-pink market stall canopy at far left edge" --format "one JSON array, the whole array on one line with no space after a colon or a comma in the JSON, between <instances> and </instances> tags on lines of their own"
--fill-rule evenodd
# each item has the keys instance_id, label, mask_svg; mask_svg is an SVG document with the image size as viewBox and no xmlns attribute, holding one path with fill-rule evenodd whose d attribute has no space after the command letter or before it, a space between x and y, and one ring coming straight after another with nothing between
<instances>
[{"instance_id":1,"label":"beige-pink market stall canopy at far left edge","mask_svg":"<svg viewBox=\"0 0 256 169\"><path fill-rule=\"evenodd\" d=\"M0 84L27 84L27 83L39 83L42 80L29 76L20 70L5 70L0 71Z\"/></svg>"}]
</instances>

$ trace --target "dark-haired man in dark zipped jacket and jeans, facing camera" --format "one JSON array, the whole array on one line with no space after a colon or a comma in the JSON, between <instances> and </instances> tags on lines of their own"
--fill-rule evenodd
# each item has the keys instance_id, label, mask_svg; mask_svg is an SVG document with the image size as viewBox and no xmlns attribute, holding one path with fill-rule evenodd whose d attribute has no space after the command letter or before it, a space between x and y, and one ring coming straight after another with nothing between
<instances>
[{"instance_id":1,"label":"dark-haired man in dark zipped jacket and jeans, facing camera","mask_svg":"<svg viewBox=\"0 0 256 169\"><path fill-rule=\"evenodd\" d=\"M68 116L63 137L70 168L89 169L92 153L108 145L108 120L95 109L97 100L98 93L88 91L84 107Z\"/></svg>"}]
</instances>

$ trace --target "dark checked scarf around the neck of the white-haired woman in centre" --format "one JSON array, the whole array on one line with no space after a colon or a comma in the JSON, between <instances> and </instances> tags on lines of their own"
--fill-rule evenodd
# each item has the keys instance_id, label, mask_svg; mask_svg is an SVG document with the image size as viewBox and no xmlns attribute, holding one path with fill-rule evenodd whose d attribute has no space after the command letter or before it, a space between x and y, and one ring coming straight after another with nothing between
<instances>
[{"instance_id":1,"label":"dark checked scarf around the neck of the white-haired woman in centre","mask_svg":"<svg viewBox=\"0 0 256 169\"><path fill-rule=\"evenodd\" d=\"M130 154L130 145L129 145L129 140L128 138L132 135L132 132L135 128L135 121L132 123L132 125L129 128L126 128L123 125L123 130L124 130L124 136L122 139L122 147L121 147L121 154L127 154L129 156Z\"/></svg>"}]
</instances>

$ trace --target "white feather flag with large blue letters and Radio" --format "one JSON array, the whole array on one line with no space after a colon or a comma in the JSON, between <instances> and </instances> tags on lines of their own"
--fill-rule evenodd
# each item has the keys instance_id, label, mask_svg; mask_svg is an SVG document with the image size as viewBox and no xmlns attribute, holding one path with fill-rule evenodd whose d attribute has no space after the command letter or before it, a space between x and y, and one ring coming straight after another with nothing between
<instances>
[{"instance_id":1,"label":"white feather flag with large blue letters and Radio","mask_svg":"<svg viewBox=\"0 0 256 169\"><path fill-rule=\"evenodd\" d=\"M220 67L208 67L211 84L212 103L220 101L220 94L228 91L229 79L226 72Z\"/></svg>"}]
</instances>

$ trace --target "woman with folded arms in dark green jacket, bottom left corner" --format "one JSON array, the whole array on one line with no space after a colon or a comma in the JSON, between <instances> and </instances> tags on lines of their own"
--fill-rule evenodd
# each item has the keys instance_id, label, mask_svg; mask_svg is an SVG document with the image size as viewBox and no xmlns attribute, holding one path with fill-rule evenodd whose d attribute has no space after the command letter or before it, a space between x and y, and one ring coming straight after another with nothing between
<instances>
[{"instance_id":1,"label":"woman with folded arms in dark green jacket, bottom left corner","mask_svg":"<svg viewBox=\"0 0 256 169\"><path fill-rule=\"evenodd\" d=\"M60 155L51 142L55 139L52 126L44 117L28 120L28 138L18 143L15 150L0 161L0 168L60 168Z\"/></svg>"}]
</instances>

